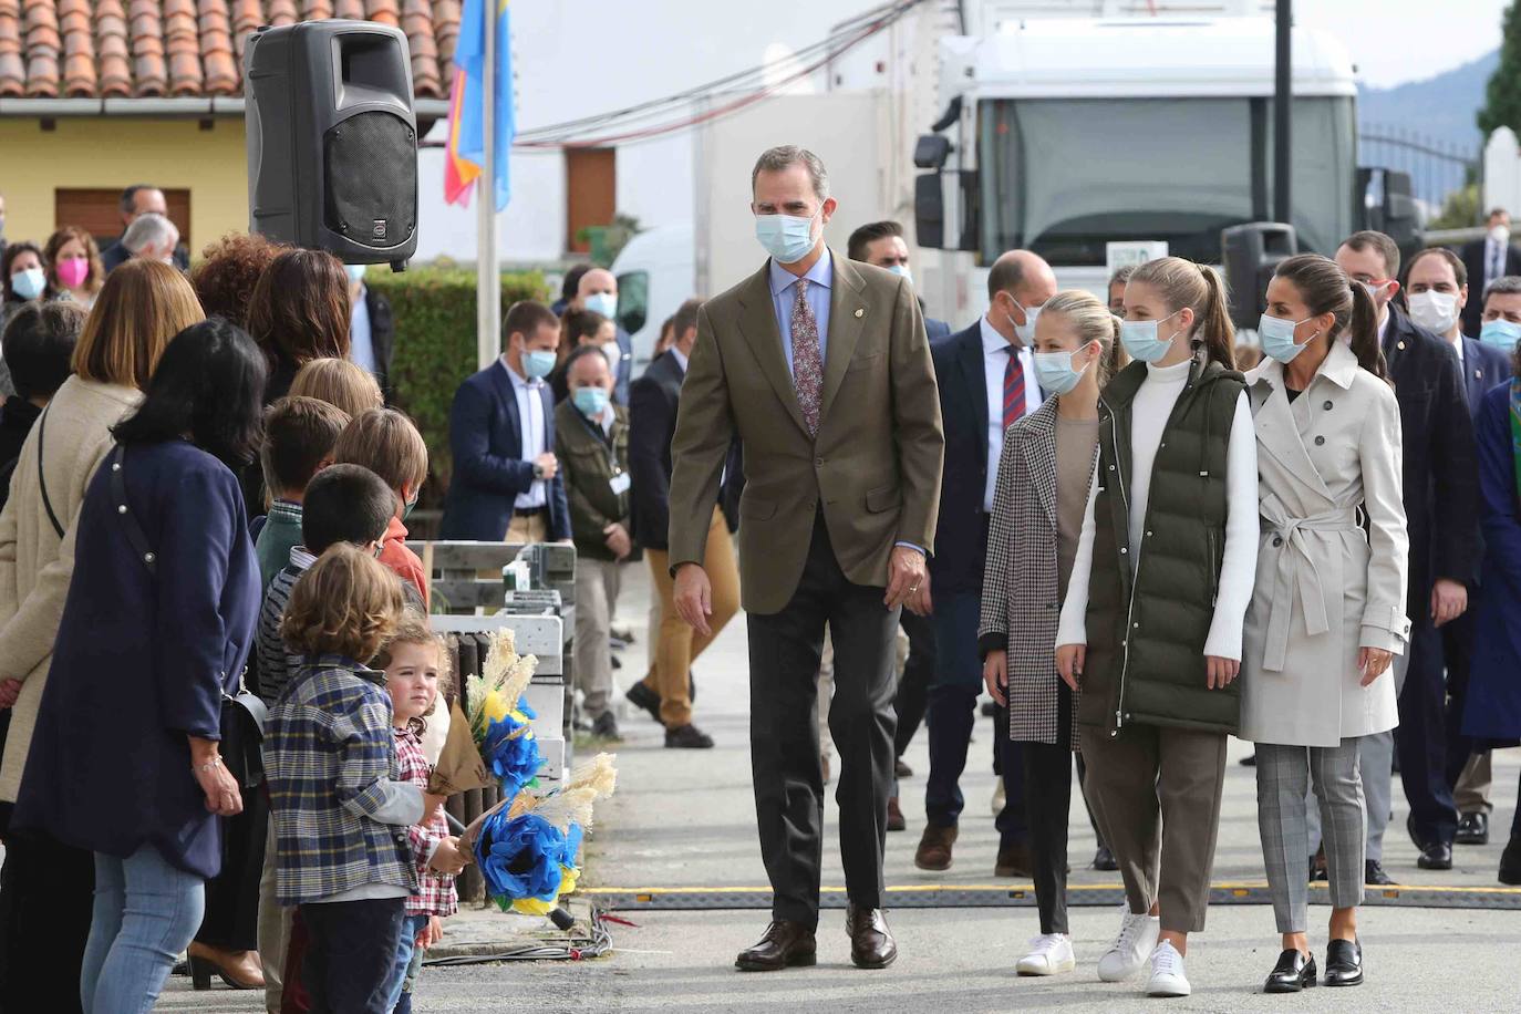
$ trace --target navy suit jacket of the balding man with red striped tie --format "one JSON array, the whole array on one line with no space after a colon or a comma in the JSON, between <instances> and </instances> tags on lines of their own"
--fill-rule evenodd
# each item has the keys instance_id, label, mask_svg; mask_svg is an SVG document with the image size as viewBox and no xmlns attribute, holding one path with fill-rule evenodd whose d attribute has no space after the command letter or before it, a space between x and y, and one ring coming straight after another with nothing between
<instances>
[{"instance_id":1,"label":"navy suit jacket of the balding man with red striped tie","mask_svg":"<svg viewBox=\"0 0 1521 1014\"><path fill-rule=\"evenodd\" d=\"M940 385L946 464L940 480L940 526L929 561L932 587L983 590L983 491L987 485L987 379L983 322L932 342ZM1034 380L1031 377L1031 380Z\"/></svg>"}]
</instances>

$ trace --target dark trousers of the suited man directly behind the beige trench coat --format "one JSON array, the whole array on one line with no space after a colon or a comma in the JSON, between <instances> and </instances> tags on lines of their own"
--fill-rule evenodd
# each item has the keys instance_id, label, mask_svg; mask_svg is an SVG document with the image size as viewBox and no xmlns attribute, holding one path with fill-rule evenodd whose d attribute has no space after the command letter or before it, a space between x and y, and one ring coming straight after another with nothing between
<instances>
[{"instance_id":1,"label":"dark trousers of the suited man directly behind the beige trench coat","mask_svg":"<svg viewBox=\"0 0 1521 1014\"><path fill-rule=\"evenodd\" d=\"M1446 778L1446 681L1442 631L1431 625L1425 604L1419 608L1407 652L1410 667L1399 692L1399 780L1410 803L1410 822L1424 844L1453 844L1457 806Z\"/></svg>"}]
</instances>

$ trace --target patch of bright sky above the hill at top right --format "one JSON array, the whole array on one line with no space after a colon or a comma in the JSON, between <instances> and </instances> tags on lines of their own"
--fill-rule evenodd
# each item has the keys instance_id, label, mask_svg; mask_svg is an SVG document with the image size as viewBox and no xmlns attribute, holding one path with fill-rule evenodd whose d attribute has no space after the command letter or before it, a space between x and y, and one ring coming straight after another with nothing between
<instances>
[{"instance_id":1,"label":"patch of bright sky above the hill at top right","mask_svg":"<svg viewBox=\"0 0 1521 1014\"><path fill-rule=\"evenodd\" d=\"M1294 0L1294 20L1342 40L1369 85L1419 81L1500 46L1506 0Z\"/></svg>"}]
</instances>

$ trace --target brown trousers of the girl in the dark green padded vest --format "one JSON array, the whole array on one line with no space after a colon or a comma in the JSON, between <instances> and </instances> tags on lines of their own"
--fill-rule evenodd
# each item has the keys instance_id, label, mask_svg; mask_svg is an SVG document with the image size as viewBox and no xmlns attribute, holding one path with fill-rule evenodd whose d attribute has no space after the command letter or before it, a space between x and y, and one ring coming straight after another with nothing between
<instances>
[{"instance_id":1,"label":"brown trousers of the girl in the dark green padded vest","mask_svg":"<svg viewBox=\"0 0 1521 1014\"><path fill-rule=\"evenodd\" d=\"M1162 929L1205 927L1220 830L1226 734L1127 725L1083 733L1083 789L1119 862L1135 914L1161 908Z\"/></svg>"}]
</instances>

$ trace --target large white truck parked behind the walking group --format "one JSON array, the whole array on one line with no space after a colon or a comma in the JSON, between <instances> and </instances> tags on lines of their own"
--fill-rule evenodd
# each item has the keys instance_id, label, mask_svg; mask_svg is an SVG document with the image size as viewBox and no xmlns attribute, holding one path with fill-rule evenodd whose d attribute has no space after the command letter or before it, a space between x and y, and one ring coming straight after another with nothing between
<instances>
[{"instance_id":1,"label":"large white truck parked behind the walking group","mask_svg":"<svg viewBox=\"0 0 1521 1014\"><path fill-rule=\"evenodd\" d=\"M1293 30L1291 193L1300 251L1360 228L1405 239L1401 173L1358 169L1355 68ZM914 147L920 292L973 316L992 261L1033 249L1063 287L1104 293L1112 242L1221 260L1221 231L1272 220L1272 17L1007 20L940 40L943 116Z\"/></svg>"}]
</instances>

